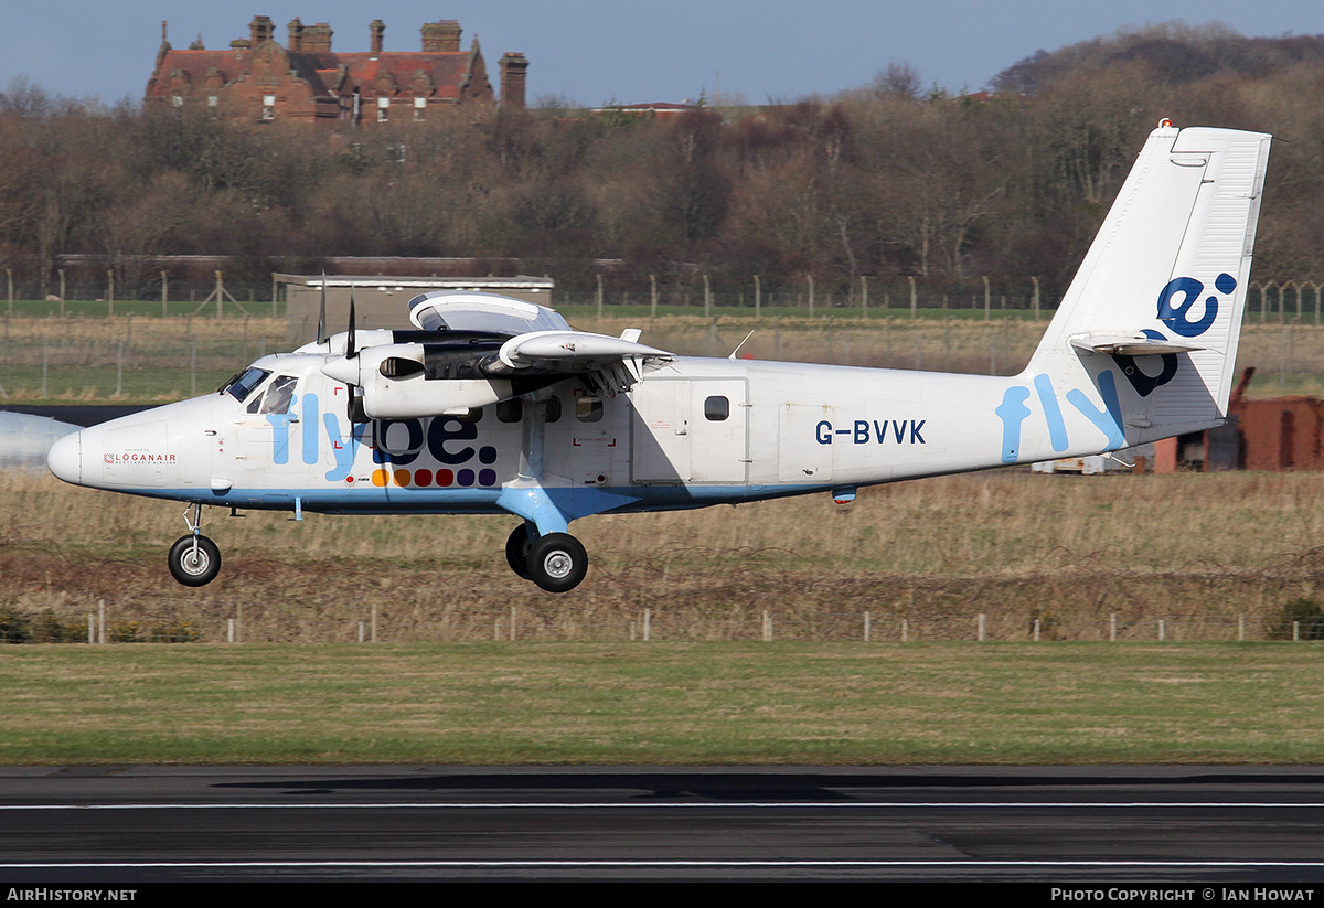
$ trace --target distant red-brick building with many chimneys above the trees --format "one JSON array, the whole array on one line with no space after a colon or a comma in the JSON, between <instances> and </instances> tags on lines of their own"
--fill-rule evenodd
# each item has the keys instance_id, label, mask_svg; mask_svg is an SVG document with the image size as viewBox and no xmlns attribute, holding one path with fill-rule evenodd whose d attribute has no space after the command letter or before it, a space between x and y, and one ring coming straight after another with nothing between
<instances>
[{"instance_id":1,"label":"distant red-brick building with many chimneys above the trees","mask_svg":"<svg viewBox=\"0 0 1324 908\"><path fill-rule=\"evenodd\" d=\"M225 50L208 50L201 37L188 50L175 50L162 23L162 46L144 102L148 109L205 106L254 123L291 120L332 128L495 109L478 38L462 50L458 23L428 23L420 29L421 49L405 52L385 49L381 20L368 30L371 50L335 53L330 25L295 19L281 46L271 19L254 16L249 37L232 41ZM504 107L524 106L527 70L524 54L502 57Z\"/></svg>"}]
</instances>

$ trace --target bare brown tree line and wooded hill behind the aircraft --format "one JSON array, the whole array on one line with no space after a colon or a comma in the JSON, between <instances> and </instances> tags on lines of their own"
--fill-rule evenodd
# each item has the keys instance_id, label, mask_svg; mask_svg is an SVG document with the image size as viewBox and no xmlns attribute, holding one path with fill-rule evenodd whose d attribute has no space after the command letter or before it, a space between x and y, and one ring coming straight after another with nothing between
<instances>
[{"instance_id":1,"label":"bare brown tree line and wooded hill behind the aircraft","mask_svg":"<svg viewBox=\"0 0 1324 908\"><path fill-rule=\"evenodd\" d=\"M328 255L475 257L589 287L861 277L1058 291L1160 118L1274 132L1260 278L1324 275L1324 38L1158 26L1041 52L994 93L923 91L906 65L829 98L673 119L555 105L359 132L205 109L0 93L0 263L45 290L90 254L127 293L139 255L240 273Z\"/></svg>"}]
</instances>

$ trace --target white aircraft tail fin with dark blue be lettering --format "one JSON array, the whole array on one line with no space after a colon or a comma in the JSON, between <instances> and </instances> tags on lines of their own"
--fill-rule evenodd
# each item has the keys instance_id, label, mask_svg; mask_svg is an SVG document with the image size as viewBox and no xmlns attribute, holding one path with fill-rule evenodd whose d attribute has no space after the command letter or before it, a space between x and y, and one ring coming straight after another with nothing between
<instances>
[{"instance_id":1,"label":"white aircraft tail fin with dark blue be lettering","mask_svg":"<svg viewBox=\"0 0 1324 908\"><path fill-rule=\"evenodd\" d=\"M1221 425L1268 144L1155 130L1023 377L1102 396L1127 445Z\"/></svg>"}]
</instances>

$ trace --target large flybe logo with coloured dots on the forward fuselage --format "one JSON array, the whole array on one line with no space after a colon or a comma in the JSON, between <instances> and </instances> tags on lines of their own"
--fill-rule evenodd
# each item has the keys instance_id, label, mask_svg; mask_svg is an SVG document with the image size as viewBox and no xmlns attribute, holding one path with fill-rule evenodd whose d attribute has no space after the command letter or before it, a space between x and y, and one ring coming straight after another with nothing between
<instances>
[{"instance_id":1,"label":"large flybe logo with coloured dots on the forward fuselage","mask_svg":"<svg viewBox=\"0 0 1324 908\"><path fill-rule=\"evenodd\" d=\"M305 426L302 431L302 461L307 466L315 466L320 461L320 433L318 433L319 401L314 393L295 396L290 401L287 413L267 413L266 421L271 424L271 461L277 466L290 462L290 425L295 421L295 405L299 406L299 424ZM354 470L359 447L367 443L372 450L372 462L381 465L381 470L375 471L376 477L384 475L395 479L396 484L422 484L422 486L449 486L455 482L461 486L495 486L496 471L490 469L479 470L400 470L412 465L425 453L433 461L450 467L469 463L475 457L481 465L496 462L496 449L491 445L473 446L465 442L477 441L478 426L470 421L457 417L433 417L424 425L422 420L377 420L372 424L355 422L350 425L350 433L340 429L340 417L335 413L320 413L322 429L330 443L335 466L327 470L328 482L344 482ZM372 426L371 441L365 442L364 435ZM410 482L413 477L417 480ZM426 482L422 482L426 477ZM401 479L404 482L401 482ZM450 479L451 482L446 482Z\"/></svg>"}]
</instances>

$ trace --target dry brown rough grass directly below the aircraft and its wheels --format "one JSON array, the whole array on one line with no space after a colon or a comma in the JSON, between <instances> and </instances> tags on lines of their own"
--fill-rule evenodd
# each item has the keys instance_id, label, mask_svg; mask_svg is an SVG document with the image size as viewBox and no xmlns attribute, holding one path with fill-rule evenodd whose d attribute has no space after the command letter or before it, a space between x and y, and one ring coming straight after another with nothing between
<instances>
[{"instance_id":1,"label":"dry brown rough grass directly below the aircraft and its wheels","mask_svg":"<svg viewBox=\"0 0 1324 908\"><path fill-rule=\"evenodd\" d=\"M568 596L515 578L514 519L328 518L213 511L221 578L175 585L164 551L183 507L44 477L0 477L0 605L107 623L191 622L220 639L784 638L1230 639L1275 627L1324 586L1324 475L1031 477L998 471L826 495L575 524L591 552Z\"/></svg>"}]
</instances>

